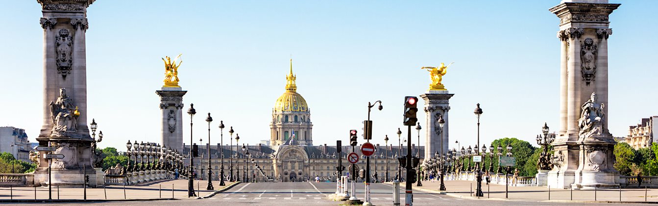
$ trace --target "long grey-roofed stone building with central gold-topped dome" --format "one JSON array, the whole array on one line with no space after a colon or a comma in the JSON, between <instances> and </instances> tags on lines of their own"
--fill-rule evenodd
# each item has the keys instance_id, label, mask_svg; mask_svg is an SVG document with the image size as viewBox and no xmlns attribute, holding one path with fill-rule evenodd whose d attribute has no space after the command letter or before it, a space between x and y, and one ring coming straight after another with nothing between
<instances>
[{"instance_id":1,"label":"long grey-roofed stone building with central gold-topped dome","mask_svg":"<svg viewBox=\"0 0 658 206\"><path fill-rule=\"evenodd\" d=\"M208 149L210 149L212 157L210 167L213 171L213 180L219 179L220 157L222 156L224 157L225 176L229 176L232 167L234 174L240 179L246 175L249 176L250 181L255 178L259 181L269 179L291 182L313 180L315 176L323 180L335 181L339 157L342 159L342 165L345 166L343 175L347 174L349 163L346 157L352 151L351 146L342 146L342 152L339 154L335 145L313 145L311 112L306 100L297 93L296 79L292 72L291 60L290 72L286 76L286 91L276 99L274 109L272 109L270 145L265 143L245 145L243 150L242 145L222 146L206 143L205 147L199 147L201 157L196 157L194 160L197 174L204 180L208 178ZM219 142L216 139L214 141ZM226 141L228 140L225 139L224 142ZM349 142L347 135L343 138L343 142ZM359 140L359 142L363 143L363 140ZM190 153L190 145L184 145L184 147L184 153ZM376 153L370 159L370 174L377 172L378 180L382 181L386 176L386 161L388 161L389 179L394 178L397 174L397 159L395 158L400 152L405 154L407 147L393 145L389 145L388 148L384 148L384 145L376 147ZM415 146L412 149L413 155L417 155L420 150L421 161L424 157L423 149L424 147ZM361 155L359 146L355 147L355 152ZM259 165L261 170L257 170L255 165ZM361 155L357 165L365 168L365 156ZM240 168L240 174L237 174L238 168ZM404 178L405 169L401 170Z\"/></svg>"}]
</instances>

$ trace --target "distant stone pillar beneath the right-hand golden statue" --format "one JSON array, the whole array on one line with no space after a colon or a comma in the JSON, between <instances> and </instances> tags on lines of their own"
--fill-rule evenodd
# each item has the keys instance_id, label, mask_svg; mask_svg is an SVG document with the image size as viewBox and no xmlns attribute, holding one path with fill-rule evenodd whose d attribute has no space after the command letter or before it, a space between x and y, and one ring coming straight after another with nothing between
<instances>
[{"instance_id":1,"label":"distant stone pillar beneath the right-hand golden statue","mask_svg":"<svg viewBox=\"0 0 658 206\"><path fill-rule=\"evenodd\" d=\"M441 128L437 122L440 115L443 115L443 153L447 153L449 136L449 116L448 111L449 99L452 97L453 93L449 93L447 90L428 90L426 93L420 95L420 97L425 101L425 159L434 157L434 153L437 151L441 153L442 145L442 136Z\"/></svg>"}]
</instances>

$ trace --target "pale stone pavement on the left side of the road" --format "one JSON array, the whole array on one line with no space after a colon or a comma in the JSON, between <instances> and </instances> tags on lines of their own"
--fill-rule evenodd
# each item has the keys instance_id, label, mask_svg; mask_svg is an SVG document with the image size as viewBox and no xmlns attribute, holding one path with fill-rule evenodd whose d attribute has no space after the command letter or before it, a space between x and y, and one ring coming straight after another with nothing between
<instances>
[{"instance_id":1,"label":"pale stone pavement on the left side of the road","mask_svg":"<svg viewBox=\"0 0 658 206\"><path fill-rule=\"evenodd\" d=\"M226 186L230 186L233 182L225 182ZM203 197L209 195L214 191L205 190L207 180L194 180L194 189L197 190L197 195ZM215 190L220 190L224 187L219 186L219 181L213 180ZM162 189L160 189L162 188ZM173 188L173 192L172 192ZM200 190L198 190L200 189ZM22 200L43 200L48 199L48 187L3 187L0 188L0 201L9 199L22 199ZM12 195L13 193L13 195ZM105 195L107 194L107 198ZM53 187L53 199L84 199L84 188L59 188ZM59 195L59 197L58 197ZM188 197L188 180L166 180L163 182L155 182L149 184L141 184L138 186L126 186L124 197L124 186L106 186L100 188L87 188L87 199L195 199L197 197Z\"/></svg>"}]
</instances>

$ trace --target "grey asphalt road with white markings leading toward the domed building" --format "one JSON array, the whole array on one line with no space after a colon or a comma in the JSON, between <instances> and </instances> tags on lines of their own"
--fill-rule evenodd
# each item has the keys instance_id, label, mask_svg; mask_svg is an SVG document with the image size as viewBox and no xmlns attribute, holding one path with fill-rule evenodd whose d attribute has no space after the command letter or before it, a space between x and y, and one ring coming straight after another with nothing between
<instances>
[{"instance_id":1,"label":"grey asphalt road with white markings leading toward the domed building","mask_svg":"<svg viewBox=\"0 0 658 206\"><path fill-rule=\"evenodd\" d=\"M364 199L364 185L357 185L357 197ZM370 192L372 194L372 203L374 205L393 205L392 186L386 184L371 184ZM336 192L336 183L334 182L279 182L279 183L243 183L218 193L207 199L186 199L170 201L123 201L123 202L100 202L91 203L94 205L341 205L342 201L331 201L326 198L328 195ZM404 187L400 190L401 203L404 205ZM528 201L494 201L486 199L460 199L449 195L438 193L427 193L413 191L414 205L613 205L603 203L549 203L549 202L528 202ZM34 203L31 203L31 205ZM36 203L38 204L38 203ZM64 203L48 205L78 205L90 203ZM616 205L616 204L615 204ZM624 204L624 205L644 205L644 204Z\"/></svg>"}]
</instances>

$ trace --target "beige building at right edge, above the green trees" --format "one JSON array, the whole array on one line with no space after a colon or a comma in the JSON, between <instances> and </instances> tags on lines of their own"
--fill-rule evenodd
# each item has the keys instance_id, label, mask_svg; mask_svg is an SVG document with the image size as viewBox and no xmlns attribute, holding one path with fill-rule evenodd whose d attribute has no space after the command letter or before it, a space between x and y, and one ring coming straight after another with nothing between
<instances>
[{"instance_id":1,"label":"beige building at right edge, above the green trees","mask_svg":"<svg viewBox=\"0 0 658 206\"><path fill-rule=\"evenodd\" d=\"M650 147L651 143L657 142L653 138L653 128L658 126L658 116L651 116L649 118L642 118L640 124L630 126L628 128L628 136L626 136L626 143L634 149Z\"/></svg>"}]
</instances>

